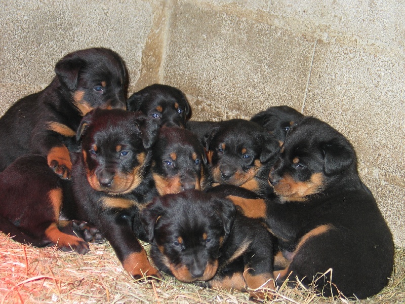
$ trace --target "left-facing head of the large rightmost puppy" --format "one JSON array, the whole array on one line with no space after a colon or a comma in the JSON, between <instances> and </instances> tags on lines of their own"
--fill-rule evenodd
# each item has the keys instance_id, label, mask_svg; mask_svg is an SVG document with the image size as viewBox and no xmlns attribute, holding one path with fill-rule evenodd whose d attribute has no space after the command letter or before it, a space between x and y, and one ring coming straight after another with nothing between
<instances>
[{"instance_id":1,"label":"left-facing head of the large rightmost puppy","mask_svg":"<svg viewBox=\"0 0 405 304\"><path fill-rule=\"evenodd\" d=\"M305 201L356 174L352 145L330 125L306 117L292 126L270 171L269 182L284 201Z\"/></svg>"}]
</instances>

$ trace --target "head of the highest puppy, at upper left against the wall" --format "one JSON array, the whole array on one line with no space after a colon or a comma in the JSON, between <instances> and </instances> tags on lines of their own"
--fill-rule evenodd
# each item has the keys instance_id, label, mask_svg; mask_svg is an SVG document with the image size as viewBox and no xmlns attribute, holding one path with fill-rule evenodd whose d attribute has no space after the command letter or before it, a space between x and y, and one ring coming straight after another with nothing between
<instances>
[{"instance_id":1,"label":"head of the highest puppy, at upper left against the wall","mask_svg":"<svg viewBox=\"0 0 405 304\"><path fill-rule=\"evenodd\" d=\"M93 108L125 109L128 76L123 59L109 49L70 53L55 66L62 93L84 116Z\"/></svg>"}]
</instances>

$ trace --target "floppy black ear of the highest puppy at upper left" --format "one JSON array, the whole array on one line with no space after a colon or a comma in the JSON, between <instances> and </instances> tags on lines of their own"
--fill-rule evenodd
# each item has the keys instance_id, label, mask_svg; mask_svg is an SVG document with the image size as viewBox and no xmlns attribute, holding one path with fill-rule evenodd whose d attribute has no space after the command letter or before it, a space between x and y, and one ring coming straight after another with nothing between
<instances>
[{"instance_id":1,"label":"floppy black ear of the highest puppy at upper left","mask_svg":"<svg viewBox=\"0 0 405 304\"><path fill-rule=\"evenodd\" d=\"M85 61L76 53L71 53L63 57L55 65L55 73L59 82L73 91L77 87L79 71L85 66Z\"/></svg>"}]
</instances>

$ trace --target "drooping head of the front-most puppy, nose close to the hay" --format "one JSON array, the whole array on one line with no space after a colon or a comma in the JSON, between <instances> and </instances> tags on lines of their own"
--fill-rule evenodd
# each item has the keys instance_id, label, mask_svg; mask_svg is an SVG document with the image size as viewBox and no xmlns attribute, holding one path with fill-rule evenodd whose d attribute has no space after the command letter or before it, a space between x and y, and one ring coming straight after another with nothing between
<instances>
[{"instance_id":1,"label":"drooping head of the front-most puppy, nose close to the hay","mask_svg":"<svg viewBox=\"0 0 405 304\"><path fill-rule=\"evenodd\" d=\"M200 191L155 198L141 214L151 258L180 281L210 280L235 213L231 201Z\"/></svg>"}]
</instances>

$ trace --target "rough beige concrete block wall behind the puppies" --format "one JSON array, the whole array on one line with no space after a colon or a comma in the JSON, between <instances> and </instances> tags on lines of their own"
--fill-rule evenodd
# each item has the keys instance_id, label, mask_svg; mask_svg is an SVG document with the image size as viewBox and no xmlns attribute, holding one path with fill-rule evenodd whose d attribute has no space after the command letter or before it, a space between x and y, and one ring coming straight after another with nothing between
<instances>
[{"instance_id":1,"label":"rough beige concrete block wall behind the puppies","mask_svg":"<svg viewBox=\"0 0 405 304\"><path fill-rule=\"evenodd\" d=\"M130 92L160 82L193 119L249 118L287 104L353 143L401 245L405 240L405 5L402 0L0 0L0 115L44 88L76 49L127 62Z\"/></svg>"}]
</instances>

